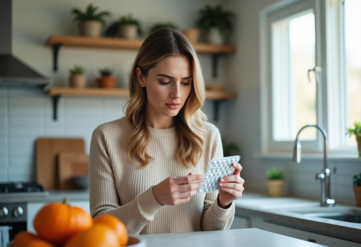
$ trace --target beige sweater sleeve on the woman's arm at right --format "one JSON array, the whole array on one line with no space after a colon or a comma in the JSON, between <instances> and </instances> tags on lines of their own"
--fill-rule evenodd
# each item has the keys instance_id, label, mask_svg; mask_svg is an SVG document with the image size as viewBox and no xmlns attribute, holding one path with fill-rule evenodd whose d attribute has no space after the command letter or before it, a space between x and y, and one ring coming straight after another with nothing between
<instances>
[{"instance_id":1,"label":"beige sweater sleeve on the woman's arm at right","mask_svg":"<svg viewBox=\"0 0 361 247\"><path fill-rule=\"evenodd\" d=\"M218 129L213 138L211 153L211 159L223 157L221 134ZM229 208L223 209L219 207L217 201L218 190L206 194L201 220L203 231L227 230L232 225L235 213L234 202Z\"/></svg>"}]
</instances>

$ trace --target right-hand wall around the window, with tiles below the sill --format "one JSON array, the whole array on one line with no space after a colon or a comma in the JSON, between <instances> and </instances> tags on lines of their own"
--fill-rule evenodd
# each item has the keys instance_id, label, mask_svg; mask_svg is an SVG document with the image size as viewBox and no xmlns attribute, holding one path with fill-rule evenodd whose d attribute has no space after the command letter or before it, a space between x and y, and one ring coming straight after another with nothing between
<instances>
[{"instance_id":1,"label":"right-hand wall around the window, with tiles below the sill","mask_svg":"<svg viewBox=\"0 0 361 247\"><path fill-rule=\"evenodd\" d=\"M234 88L238 98L229 108L227 136L242 149L242 177L245 191L266 193L266 169L272 166L285 169L287 180L285 195L319 200L321 188L314 180L321 172L322 160L304 160L294 164L291 159L260 159L261 151L260 105L260 53L259 12L277 0L228 0L226 6L238 16L233 40L237 52L227 60L226 81ZM292 147L290 147L292 152ZM336 203L355 204L352 191L352 174L361 172L361 162L332 160L329 168L336 174L331 177L331 193Z\"/></svg>"}]
</instances>

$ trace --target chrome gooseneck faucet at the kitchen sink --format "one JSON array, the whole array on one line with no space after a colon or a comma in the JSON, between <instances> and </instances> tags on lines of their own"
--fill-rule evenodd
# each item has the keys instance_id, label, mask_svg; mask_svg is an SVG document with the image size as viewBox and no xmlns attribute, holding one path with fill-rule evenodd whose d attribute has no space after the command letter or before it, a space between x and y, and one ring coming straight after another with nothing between
<instances>
[{"instance_id":1,"label":"chrome gooseneck faucet at the kitchen sink","mask_svg":"<svg viewBox=\"0 0 361 247\"><path fill-rule=\"evenodd\" d=\"M316 181L321 183L321 206L323 207L333 207L335 205L335 200L331 199L330 195L330 169L327 168L327 132L323 129L322 126L319 125L306 125L303 126L300 131L298 131L296 140L295 140L295 147L293 148L293 162L297 162L298 164L301 162L301 143L298 140L298 136L303 129L306 127L315 127L319 129L323 135L325 140L323 146L323 169L321 173L316 174Z\"/></svg>"}]
</instances>

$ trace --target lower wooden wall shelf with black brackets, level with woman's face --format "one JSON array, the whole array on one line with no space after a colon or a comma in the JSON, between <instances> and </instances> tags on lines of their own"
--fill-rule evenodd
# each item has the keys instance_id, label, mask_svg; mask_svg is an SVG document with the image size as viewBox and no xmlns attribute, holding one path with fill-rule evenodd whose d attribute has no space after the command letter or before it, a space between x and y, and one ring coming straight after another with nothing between
<instances>
[{"instance_id":1,"label":"lower wooden wall shelf with black brackets, level with woman's face","mask_svg":"<svg viewBox=\"0 0 361 247\"><path fill-rule=\"evenodd\" d=\"M53 98L53 120L57 120L58 100L61 96L83 96L83 97L129 97L128 88L71 88L53 87L47 92ZM234 99L237 95L234 92L207 91L206 99L214 101L214 119L218 120L219 102L222 100Z\"/></svg>"}]
</instances>

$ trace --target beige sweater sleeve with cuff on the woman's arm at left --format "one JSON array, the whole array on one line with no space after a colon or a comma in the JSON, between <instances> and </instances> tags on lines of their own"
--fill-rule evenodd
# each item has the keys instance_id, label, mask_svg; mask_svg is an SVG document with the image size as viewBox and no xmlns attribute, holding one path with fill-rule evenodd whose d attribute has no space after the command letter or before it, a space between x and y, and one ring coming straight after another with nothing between
<instances>
[{"instance_id":1,"label":"beige sweater sleeve with cuff on the woman's arm at left","mask_svg":"<svg viewBox=\"0 0 361 247\"><path fill-rule=\"evenodd\" d=\"M103 214L114 215L125 224L129 234L139 234L164 206L155 199L153 186L131 202L121 205L108 150L104 136L99 130L94 130L89 153L91 215L93 218Z\"/></svg>"}]
</instances>

